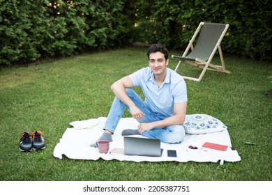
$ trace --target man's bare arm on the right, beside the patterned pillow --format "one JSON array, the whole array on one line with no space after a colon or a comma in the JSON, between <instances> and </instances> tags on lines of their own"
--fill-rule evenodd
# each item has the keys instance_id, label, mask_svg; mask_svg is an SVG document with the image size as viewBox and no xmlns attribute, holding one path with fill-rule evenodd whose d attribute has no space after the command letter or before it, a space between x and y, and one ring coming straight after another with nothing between
<instances>
[{"instance_id":1,"label":"man's bare arm on the right, beside the patterned pillow","mask_svg":"<svg viewBox=\"0 0 272 195\"><path fill-rule=\"evenodd\" d=\"M187 102L174 104L174 116L169 116L164 120L158 120L152 123L141 123L138 126L140 133L152 130L156 127L167 127L170 125L182 125L185 121L187 111Z\"/></svg>"}]
</instances>

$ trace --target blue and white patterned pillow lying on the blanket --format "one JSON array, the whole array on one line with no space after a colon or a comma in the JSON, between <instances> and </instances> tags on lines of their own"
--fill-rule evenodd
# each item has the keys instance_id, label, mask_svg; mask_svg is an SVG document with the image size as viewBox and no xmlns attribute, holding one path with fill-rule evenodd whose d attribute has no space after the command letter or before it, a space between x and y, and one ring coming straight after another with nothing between
<instances>
[{"instance_id":1,"label":"blue and white patterned pillow lying on the blanket","mask_svg":"<svg viewBox=\"0 0 272 195\"><path fill-rule=\"evenodd\" d=\"M188 114L183 126L188 134L206 134L227 130L224 123L207 114Z\"/></svg>"}]
</instances>

